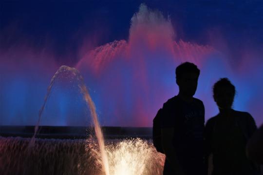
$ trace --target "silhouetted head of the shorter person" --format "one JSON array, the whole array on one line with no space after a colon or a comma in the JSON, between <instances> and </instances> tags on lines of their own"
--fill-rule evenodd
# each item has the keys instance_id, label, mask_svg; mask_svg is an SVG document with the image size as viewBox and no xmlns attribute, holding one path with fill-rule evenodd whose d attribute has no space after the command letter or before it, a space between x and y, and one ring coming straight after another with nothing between
<instances>
[{"instance_id":1,"label":"silhouetted head of the shorter person","mask_svg":"<svg viewBox=\"0 0 263 175\"><path fill-rule=\"evenodd\" d=\"M236 88L227 78L221 78L214 84L213 97L220 109L231 109L235 94Z\"/></svg>"}]
</instances>

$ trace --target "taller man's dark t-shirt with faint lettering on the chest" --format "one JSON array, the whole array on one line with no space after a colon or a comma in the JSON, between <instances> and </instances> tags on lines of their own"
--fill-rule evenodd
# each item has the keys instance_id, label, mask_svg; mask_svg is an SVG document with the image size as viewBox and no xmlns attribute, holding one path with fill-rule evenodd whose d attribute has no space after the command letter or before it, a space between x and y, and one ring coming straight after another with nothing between
<instances>
[{"instance_id":1,"label":"taller man's dark t-shirt with faint lettering on the chest","mask_svg":"<svg viewBox=\"0 0 263 175\"><path fill-rule=\"evenodd\" d=\"M172 97L163 105L162 128L174 128L173 145L186 175L204 173L203 132L205 108L201 100L188 103ZM172 167L165 161L164 175L172 175Z\"/></svg>"}]
</instances>

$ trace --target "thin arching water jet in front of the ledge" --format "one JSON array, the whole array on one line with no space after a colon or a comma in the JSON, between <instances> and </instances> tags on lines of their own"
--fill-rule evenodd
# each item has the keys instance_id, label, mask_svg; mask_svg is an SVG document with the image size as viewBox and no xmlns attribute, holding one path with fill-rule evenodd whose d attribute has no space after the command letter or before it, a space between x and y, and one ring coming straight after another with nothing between
<instances>
[{"instance_id":1,"label":"thin arching water jet in front of the ledge","mask_svg":"<svg viewBox=\"0 0 263 175\"><path fill-rule=\"evenodd\" d=\"M30 140L29 147L32 147L35 143L36 134L38 132L39 122L40 122L43 110L45 108L47 99L50 96L52 87L55 83L55 80L60 74L65 73L65 72L70 72L76 78L76 80L78 82L79 90L83 94L84 99L86 101L86 104L90 108L91 116L92 116L93 122L94 122L95 135L97 137L100 152L101 152L101 158L102 158L102 164L103 164L102 166L104 168L105 174L110 175L108 157L107 157L107 154L105 151L105 145L104 145L104 137L103 137L103 134L102 134L99 122L98 122L98 118L97 118L97 114L96 114L96 108L95 108L94 102L93 102L93 100L92 100L92 98L91 98L91 96L90 96L90 94L89 94L89 92L85 86L85 83L84 83L82 76L80 75L79 71L75 68L63 65L56 71L55 75L52 77L52 79L50 81L50 85L47 88L47 94L44 98L44 103L43 103L43 105L40 108L39 113L38 113L38 122L37 122L37 125L35 126L35 132L34 132L33 137Z\"/></svg>"}]
</instances>

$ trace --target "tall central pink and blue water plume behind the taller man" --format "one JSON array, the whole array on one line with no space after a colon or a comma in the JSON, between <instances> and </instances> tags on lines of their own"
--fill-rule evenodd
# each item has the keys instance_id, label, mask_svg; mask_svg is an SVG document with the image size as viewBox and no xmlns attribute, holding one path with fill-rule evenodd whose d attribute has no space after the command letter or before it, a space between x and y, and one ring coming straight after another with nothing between
<instances>
[{"instance_id":1,"label":"tall central pink and blue water plume behind the taller man","mask_svg":"<svg viewBox=\"0 0 263 175\"><path fill-rule=\"evenodd\" d=\"M98 92L94 99L108 126L151 127L156 111L177 93L175 67L190 61L202 68L214 52L176 38L169 17L142 4L131 18L129 39L83 47L76 68Z\"/></svg>"}]
</instances>

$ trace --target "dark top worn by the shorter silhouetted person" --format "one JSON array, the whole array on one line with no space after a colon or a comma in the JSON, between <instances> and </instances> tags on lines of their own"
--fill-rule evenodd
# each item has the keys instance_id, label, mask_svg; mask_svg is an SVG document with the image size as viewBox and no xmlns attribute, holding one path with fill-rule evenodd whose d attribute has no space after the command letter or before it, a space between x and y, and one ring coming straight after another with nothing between
<instances>
[{"instance_id":1,"label":"dark top worn by the shorter silhouetted person","mask_svg":"<svg viewBox=\"0 0 263 175\"><path fill-rule=\"evenodd\" d=\"M232 116L216 116L207 121L207 154L213 154L213 174L254 175L255 165L247 159L245 146L256 130L250 114L232 110Z\"/></svg>"}]
</instances>

